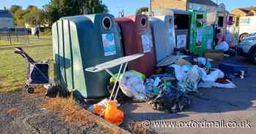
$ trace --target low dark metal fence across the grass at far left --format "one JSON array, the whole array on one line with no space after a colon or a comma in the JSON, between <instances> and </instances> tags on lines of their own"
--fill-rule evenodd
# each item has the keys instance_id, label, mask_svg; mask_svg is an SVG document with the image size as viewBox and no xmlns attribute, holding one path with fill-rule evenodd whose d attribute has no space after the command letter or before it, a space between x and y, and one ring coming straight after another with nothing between
<instances>
[{"instance_id":1,"label":"low dark metal fence across the grass at far left","mask_svg":"<svg viewBox=\"0 0 256 134\"><path fill-rule=\"evenodd\" d=\"M1 44L29 44L30 28L0 28Z\"/></svg>"}]
</instances>

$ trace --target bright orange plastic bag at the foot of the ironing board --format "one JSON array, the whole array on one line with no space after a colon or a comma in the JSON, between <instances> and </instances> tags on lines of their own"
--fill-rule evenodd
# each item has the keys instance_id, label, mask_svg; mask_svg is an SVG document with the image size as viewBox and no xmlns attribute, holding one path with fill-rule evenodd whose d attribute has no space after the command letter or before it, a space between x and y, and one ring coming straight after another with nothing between
<instances>
[{"instance_id":1,"label":"bright orange plastic bag at the foot of the ironing board","mask_svg":"<svg viewBox=\"0 0 256 134\"><path fill-rule=\"evenodd\" d=\"M117 103L110 101L105 109L105 120L116 125L121 125L124 121L124 112L117 109Z\"/></svg>"}]
</instances>

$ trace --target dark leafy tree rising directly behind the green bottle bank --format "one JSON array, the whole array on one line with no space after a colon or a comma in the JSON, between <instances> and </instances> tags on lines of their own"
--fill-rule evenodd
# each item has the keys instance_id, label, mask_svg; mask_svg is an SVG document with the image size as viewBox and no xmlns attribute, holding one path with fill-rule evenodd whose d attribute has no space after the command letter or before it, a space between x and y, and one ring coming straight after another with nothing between
<instances>
[{"instance_id":1,"label":"dark leafy tree rising directly behind the green bottle bank","mask_svg":"<svg viewBox=\"0 0 256 134\"><path fill-rule=\"evenodd\" d=\"M45 9L48 11L50 24L60 17L81 15L84 10L88 14L108 12L108 7L101 0L51 0Z\"/></svg>"}]
</instances>

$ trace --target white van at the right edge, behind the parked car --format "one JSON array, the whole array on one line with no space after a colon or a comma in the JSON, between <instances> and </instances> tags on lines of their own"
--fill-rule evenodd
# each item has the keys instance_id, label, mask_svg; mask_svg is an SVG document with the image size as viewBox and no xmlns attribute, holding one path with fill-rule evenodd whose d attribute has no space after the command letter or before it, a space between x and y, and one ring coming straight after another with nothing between
<instances>
[{"instance_id":1,"label":"white van at the right edge, behind the parked car","mask_svg":"<svg viewBox=\"0 0 256 134\"><path fill-rule=\"evenodd\" d=\"M244 16L239 20L239 39L244 39L248 34L256 32L256 16Z\"/></svg>"}]
</instances>

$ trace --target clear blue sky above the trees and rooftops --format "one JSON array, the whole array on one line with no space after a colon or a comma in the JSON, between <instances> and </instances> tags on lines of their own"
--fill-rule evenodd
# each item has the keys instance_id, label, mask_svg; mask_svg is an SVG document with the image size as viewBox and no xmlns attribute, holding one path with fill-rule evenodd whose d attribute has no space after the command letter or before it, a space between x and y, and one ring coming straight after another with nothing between
<instances>
[{"instance_id":1,"label":"clear blue sky above the trees and rooftops","mask_svg":"<svg viewBox=\"0 0 256 134\"><path fill-rule=\"evenodd\" d=\"M0 0L0 9L4 6L9 8L12 4L18 4L23 8L26 8L29 4L34 4L37 7L42 7L48 4L50 0ZM118 15L118 12L124 9L125 15L135 14L136 9L140 7L145 7L148 5L149 0L102 0L104 4L108 6L110 13L113 15ZM249 7L255 6L255 0L212 0L214 2L224 3L227 11L231 11L236 7Z\"/></svg>"}]
</instances>

